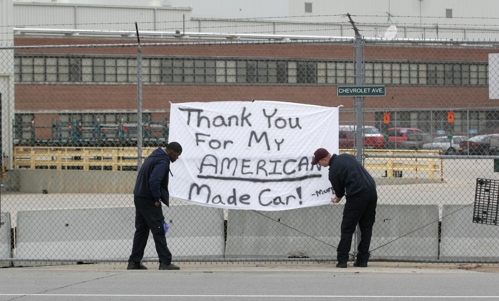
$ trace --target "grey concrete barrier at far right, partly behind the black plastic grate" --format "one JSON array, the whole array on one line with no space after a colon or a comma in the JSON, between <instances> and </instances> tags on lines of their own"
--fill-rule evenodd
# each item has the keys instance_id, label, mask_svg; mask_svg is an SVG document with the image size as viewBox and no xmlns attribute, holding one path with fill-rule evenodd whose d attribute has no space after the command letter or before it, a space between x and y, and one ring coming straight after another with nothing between
<instances>
[{"instance_id":1,"label":"grey concrete barrier at far right, partly behind the black plastic grate","mask_svg":"<svg viewBox=\"0 0 499 301\"><path fill-rule=\"evenodd\" d=\"M444 205L440 259L499 259L499 227L473 222L473 205Z\"/></svg>"}]
</instances>

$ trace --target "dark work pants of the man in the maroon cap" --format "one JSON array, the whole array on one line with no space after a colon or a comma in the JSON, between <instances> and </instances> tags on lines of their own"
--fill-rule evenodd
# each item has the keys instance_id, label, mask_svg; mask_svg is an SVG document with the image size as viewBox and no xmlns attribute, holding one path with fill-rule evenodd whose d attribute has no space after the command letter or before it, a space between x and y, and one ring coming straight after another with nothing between
<instances>
[{"instance_id":1,"label":"dark work pants of the man in the maroon cap","mask_svg":"<svg viewBox=\"0 0 499 301\"><path fill-rule=\"evenodd\" d=\"M348 252L352 245L352 236L357 224L360 228L360 243L357 253L357 261L367 263L369 260L369 245L376 216L376 202L378 194L376 189L362 195L346 197L343 219L341 221L341 238L338 244L338 262L346 263L349 259Z\"/></svg>"}]
</instances>

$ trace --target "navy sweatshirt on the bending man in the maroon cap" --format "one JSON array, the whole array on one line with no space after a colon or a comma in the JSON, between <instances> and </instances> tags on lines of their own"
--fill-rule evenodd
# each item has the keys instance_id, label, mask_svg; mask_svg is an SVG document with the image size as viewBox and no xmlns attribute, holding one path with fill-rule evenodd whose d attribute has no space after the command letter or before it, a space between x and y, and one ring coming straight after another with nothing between
<instances>
[{"instance_id":1,"label":"navy sweatshirt on the bending man in the maroon cap","mask_svg":"<svg viewBox=\"0 0 499 301\"><path fill-rule=\"evenodd\" d=\"M351 154L333 154L329 160L329 181L337 197L371 193L376 182Z\"/></svg>"}]
</instances>

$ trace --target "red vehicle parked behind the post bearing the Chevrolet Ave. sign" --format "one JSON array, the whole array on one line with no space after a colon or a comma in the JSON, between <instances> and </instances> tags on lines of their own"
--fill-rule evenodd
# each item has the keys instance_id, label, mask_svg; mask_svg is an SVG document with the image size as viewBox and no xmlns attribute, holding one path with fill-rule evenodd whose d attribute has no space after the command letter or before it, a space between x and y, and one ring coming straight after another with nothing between
<instances>
[{"instance_id":1,"label":"red vehicle parked behind the post bearing the Chevrolet Ave. sign","mask_svg":"<svg viewBox=\"0 0 499 301\"><path fill-rule=\"evenodd\" d=\"M338 134L338 144L340 149L353 148L355 141L355 126L340 126ZM364 127L364 148L382 149L385 138L375 127Z\"/></svg>"}]
</instances>

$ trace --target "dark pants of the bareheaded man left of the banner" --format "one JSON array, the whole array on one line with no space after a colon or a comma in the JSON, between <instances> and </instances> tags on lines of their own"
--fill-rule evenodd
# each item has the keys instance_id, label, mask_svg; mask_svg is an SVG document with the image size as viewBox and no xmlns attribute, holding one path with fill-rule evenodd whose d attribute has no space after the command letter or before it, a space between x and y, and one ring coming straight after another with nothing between
<instances>
[{"instance_id":1,"label":"dark pants of the bareheaded man left of the banner","mask_svg":"<svg viewBox=\"0 0 499 301\"><path fill-rule=\"evenodd\" d=\"M169 265L172 263L172 253L166 245L165 230L163 229L163 210L161 203L158 207L154 200L134 198L135 203L135 236L133 237L132 255L129 261L141 262L149 237L149 230L153 234L154 244L158 252L159 261Z\"/></svg>"}]
</instances>

